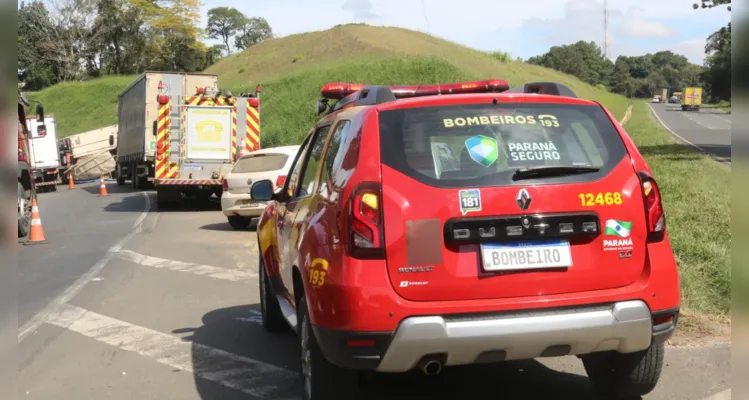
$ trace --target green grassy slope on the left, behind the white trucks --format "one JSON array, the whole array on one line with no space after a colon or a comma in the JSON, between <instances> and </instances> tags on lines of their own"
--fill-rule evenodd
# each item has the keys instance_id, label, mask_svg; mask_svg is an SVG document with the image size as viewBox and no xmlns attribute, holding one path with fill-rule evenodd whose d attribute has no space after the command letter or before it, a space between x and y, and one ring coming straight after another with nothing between
<instances>
[{"instance_id":1,"label":"green grassy slope on the left, behind the white trucks","mask_svg":"<svg viewBox=\"0 0 749 400\"><path fill-rule=\"evenodd\" d=\"M135 78L114 76L61 83L26 96L41 101L44 112L55 117L57 136L67 137L117 124L117 96Z\"/></svg>"}]
</instances>

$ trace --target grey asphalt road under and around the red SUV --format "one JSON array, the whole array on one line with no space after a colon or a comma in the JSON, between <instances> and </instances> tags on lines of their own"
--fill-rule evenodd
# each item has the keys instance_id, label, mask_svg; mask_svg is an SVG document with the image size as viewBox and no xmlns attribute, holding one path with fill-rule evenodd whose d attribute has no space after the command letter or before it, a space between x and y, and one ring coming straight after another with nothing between
<instances>
[{"instance_id":1,"label":"grey asphalt road under and around the red SUV","mask_svg":"<svg viewBox=\"0 0 749 400\"><path fill-rule=\"evenodd\" d=\"M18 398L298 399L294 336L258 324L255 233L233 231L215 203L161 212L153 194L108 188L102 198L96 185L40 195L47 243L19 252ZM669 348L645 399L704 399L729 376L728 346ZM365 391L372 400L595 398L574 357L376 377Z\"/></svg>"}]
</instances>

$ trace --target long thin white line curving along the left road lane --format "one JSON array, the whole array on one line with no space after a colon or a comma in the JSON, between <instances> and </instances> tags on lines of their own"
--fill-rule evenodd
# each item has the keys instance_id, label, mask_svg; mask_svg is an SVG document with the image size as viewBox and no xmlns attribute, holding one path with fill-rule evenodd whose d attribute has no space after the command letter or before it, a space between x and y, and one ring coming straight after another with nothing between
<instances>
[{"instance_id":1,"label":"long thin white line curving along the left road lane","mask_svg":"<svg viewBox=\"0 0 749 400\"><path fill-rule=\"evenodd\" d=\"M148 216L148 212L151 209L151 200L148 197L148 193L141 192L143 197L146 200L146 208L143 210L143 212L140 214L137 220L135 220L135 224L133 225L133 231L127 234L125 237L120 239L119 242L115 243L114 246L110 247L109 250L107 250L106 254L104 254L104 257L102 257L96 264L94 264L93 267L91 267L88 272L86 272L84 275L82 275L80 278L78 278L75 282L73 282L72 285L70 285L65 291L57 296L54 300L52 300L49 304L47 304L42 311L34 315L31 320L29 320L27 323L25 323L22 327L18 328L18 343L21 343L23 339L26 338L30 333L36 331L39 329L39 327L44 323L44 321L47 320L47 318L54 313L58 307L60 307L62 304L67 303L72 299L75 295L77 295L81 290L83 290L83 287L86 286L93 278L95 278L102 269L107 265L109 260L112 259L114 254L127 244L127 242L130 241L135 235L140 233L140 231L143 229L143 221Z\"/></svg>"}]
</instances>

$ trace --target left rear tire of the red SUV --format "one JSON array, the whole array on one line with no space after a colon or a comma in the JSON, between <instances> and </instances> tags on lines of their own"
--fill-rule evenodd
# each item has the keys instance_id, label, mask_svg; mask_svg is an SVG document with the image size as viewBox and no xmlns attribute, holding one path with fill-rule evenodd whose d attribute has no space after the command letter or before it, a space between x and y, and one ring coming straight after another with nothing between
<instances>
[{"instance_id":1,"label":"left rear tire of the red SUV","mask_svg":"<svg viewBox=\"0 0 749 400\"><path fill-rule=\"evenodd\" d=\"M300 373L303 400L351 400L359 398L359 374L356 370L330 363L317 345L309 319L307 300L300 295L297 305L298 340L301 353Z\"/></svg>"}]
</instances>

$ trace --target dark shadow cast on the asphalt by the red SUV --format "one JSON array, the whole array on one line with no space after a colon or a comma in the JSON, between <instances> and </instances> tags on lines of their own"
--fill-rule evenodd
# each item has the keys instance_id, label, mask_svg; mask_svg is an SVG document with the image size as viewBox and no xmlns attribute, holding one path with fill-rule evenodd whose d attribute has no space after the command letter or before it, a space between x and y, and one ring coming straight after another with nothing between
<instances>
[{"instance_id":1,"label":"dark shadow cast on the asphalt by the red SUV","mask_svg":"<svg viewBox=\"0 0 749 400\"><path fill-rule=\"evenodd\" d=\"M257 304L211 311L203 316L202 323L200 327L176 329L172 333L194 344L289 371L299 368L295 335L266 333L260 326ZM186 334L189 336L184 336ZM196 371L210 375L224 372L215 360L207 363L203 354L193 345L192 362ZM258 385L273 383L259 382ZM198 376L195 385L203 400L254 399ZM603 400L595 394L586 376L559 372L534 360L446 368L436 377L418 372L376 374L363 379L361 388L362 393L356 400Z\"/></svg>"}]
</instances>

